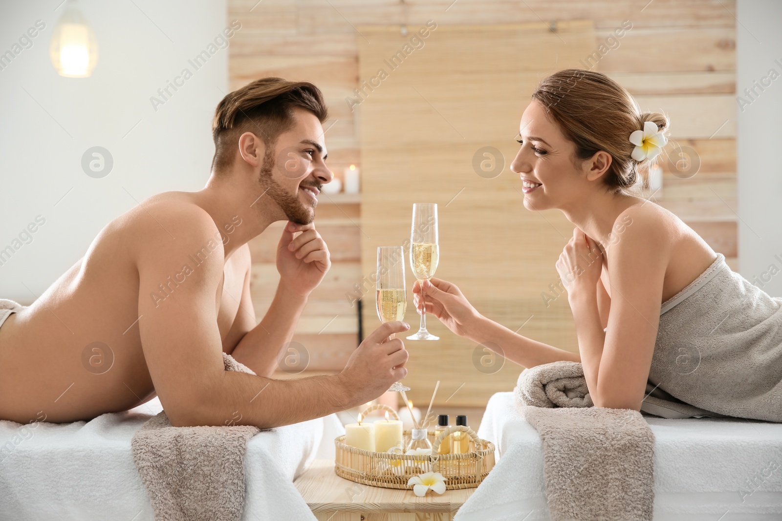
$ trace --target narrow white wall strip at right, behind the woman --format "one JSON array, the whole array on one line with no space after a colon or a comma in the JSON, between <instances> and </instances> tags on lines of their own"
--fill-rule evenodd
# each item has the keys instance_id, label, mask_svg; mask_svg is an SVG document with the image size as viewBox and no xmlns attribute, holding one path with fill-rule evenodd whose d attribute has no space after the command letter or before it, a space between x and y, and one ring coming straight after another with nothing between
<instances>
[{"instance_id":1,"label":"narrow white wall strip at right, behind the woman","mask_svg":"<svg viewBox=\"0 0 782 521\"><path fill-rule=\"evenodd\" d=\"M782 2L738 0L737 19L739 271L782 297Z\"/></svg>"}]
</instances>

